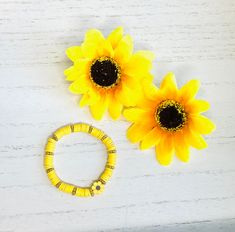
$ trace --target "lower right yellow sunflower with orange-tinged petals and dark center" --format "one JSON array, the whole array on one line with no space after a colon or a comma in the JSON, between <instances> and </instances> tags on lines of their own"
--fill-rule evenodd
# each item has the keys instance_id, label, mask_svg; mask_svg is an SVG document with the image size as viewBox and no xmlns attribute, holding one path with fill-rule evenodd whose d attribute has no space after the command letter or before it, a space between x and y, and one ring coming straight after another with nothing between
<instances>
[{"instance_id":1,"label":"lower right yellow sunflower with orange-tinged petals and dark center","mask_svg":"<svg viewBox=\"0 0 235 232\"><path fill-rule=\"evenodd\" d=\"M215 125L200 114L209 109L209 103L195 99L199 85L198 80L191 80L178 89L173 73L165 76L160 89L145 81L142 100L124 111L133 123L127 131L129 140L140 142L141 149L156 146L162 165L170 164L174 153L187 162L190 146L207 147L202 135L211 133Z\"/></svg>"}]
</instances>

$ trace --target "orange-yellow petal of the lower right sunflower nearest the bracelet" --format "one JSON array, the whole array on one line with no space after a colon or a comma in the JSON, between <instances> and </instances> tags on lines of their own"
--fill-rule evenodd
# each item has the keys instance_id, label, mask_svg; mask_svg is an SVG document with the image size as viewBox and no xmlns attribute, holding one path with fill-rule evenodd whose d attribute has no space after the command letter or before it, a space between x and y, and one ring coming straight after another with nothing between
<instances>
[{"instance_id":1,"label":"orange-yellow petal of the lower right sunflower nearest the bracelet","mask_svg":"<svg viewBox=\"0 0 235 232\"><path fill-rule=\"evenodd\" d=\"M151 126L144 123L134 123L127 130L127 138L132 143L137 143L152 129Z\"/></svg>"}]
</instances>

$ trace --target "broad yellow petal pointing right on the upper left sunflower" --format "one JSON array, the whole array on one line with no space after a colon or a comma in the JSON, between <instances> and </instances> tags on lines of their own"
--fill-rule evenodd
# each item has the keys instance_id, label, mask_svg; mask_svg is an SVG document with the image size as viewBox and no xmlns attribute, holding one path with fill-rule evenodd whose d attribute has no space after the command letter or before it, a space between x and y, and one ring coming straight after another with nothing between
<instances>
[{"instance_id":1,"label":"broad yellow petal pointing right on the upper left sunflower","mask_svg":"<svg viewBox=\"0 0 235 232\"><path fill-rule=\"evenodd\" d=\"M135 78L144 78L152 68L152 61L141 53L135 53L123 69L123 73Z\"/></svg>"}]
</instances>

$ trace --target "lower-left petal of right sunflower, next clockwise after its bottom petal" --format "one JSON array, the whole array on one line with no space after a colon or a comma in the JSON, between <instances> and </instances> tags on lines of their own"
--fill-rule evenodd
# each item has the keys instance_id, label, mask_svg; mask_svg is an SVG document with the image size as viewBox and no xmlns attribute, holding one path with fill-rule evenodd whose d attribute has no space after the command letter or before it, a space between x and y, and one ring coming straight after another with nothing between
<instances>
[{"instance_id":1,"label":"lower-left petal of right sunflower, next clockwise after its bottom petal","mask_svg":"<svg viewBox=\"0 0 235 232\"><path fill-rule=\"evenodd\" d=\"M158 127L153 128L147 135L144 136L140 143L140 149L148 149L157 145L161 140L161 131Z\"/></svg>"}]
</instances>

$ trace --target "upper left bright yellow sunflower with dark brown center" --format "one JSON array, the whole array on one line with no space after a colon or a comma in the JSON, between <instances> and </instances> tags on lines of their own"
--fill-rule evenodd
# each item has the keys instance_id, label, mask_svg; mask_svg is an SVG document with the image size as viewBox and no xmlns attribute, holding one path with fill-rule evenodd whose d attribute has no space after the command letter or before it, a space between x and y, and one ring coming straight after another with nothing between
<instances>
[{"instance_id":1,"label":"upper left bright yellow sunflower with dark brown center","mask_svg":"<svg viewBox=\"0 0 235 232\"><path fill-rule=\"evenodd\" d=\"M81 46L70 47L66 54L73 66L65 70L72 81L69 90L82 94L80 106L88 105L97 120L108 110L119 118L123 106L133 106L143 79L152 79L154 55L150 51L133 54L130 35L118 27L105 38L99 30L86 32ZM140 90L141 91L141 90Z\"/></svg>"}]
</instances>

